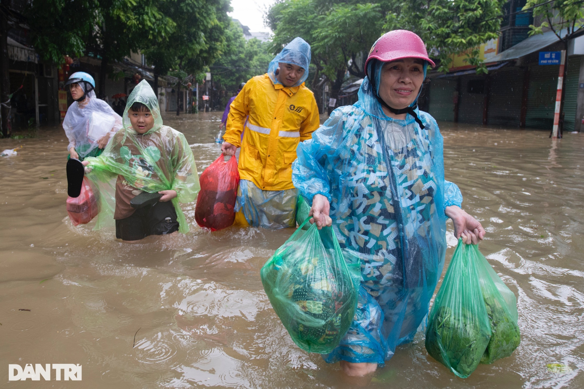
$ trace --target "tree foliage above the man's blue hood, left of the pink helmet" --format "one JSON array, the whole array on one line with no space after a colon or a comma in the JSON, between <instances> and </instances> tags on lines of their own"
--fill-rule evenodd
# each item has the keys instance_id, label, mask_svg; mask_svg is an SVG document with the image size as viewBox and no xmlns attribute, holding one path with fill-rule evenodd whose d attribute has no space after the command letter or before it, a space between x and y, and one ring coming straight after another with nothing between
<instances>
[{"instance_id":1,"label":"tree foliage above the man's blue hood, left of the pink helmet","mask_svg":"<svg viewBox=\"0 0 584 389\"><path fill-rule=\"evenodd\" d=\"M316 72L311 85L320 103L321 86L331 80L331 97L338 98L348 70L364 76L364 57L381 36L387 1L284 0L270 8L267 20L274 31L274 51L300 36L311 44ZM322 77L324 75L325 77Z\"/></svg>"}]
</instances>

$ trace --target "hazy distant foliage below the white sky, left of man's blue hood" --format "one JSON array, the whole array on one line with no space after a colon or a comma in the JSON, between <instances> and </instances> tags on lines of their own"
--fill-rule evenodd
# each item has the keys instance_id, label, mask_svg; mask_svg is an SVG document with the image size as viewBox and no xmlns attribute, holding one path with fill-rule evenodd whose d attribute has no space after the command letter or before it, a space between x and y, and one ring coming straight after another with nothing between
<instances>
[{"instance_id":1,"label":"hazy distant foliage below the white sky, left of man's blue hood","mask_svg":"<svg viewBox=\"0 0 584 389\"><path fill-rule=\"evenodd\" d=\"M239 84L265 73L273 57L269 48L269 43L255 38L246 41L241 27L231 22L223 52L211 68L215 87L235 93Z\"/></svg>"}]
</instances>

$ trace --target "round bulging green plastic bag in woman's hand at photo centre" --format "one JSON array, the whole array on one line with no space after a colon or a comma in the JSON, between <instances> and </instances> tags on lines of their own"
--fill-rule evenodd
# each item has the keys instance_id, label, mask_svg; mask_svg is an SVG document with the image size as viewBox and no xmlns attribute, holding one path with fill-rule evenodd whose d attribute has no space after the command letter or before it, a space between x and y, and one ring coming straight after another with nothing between
<instances>
[{"instance_id":1,"label":"round bulging green plastic bag in woman's hand at photo centre","mask_svg":"<svg viewBox=\"0 0 584 389\"><path fill-rule=\"evenodd\" d=\"M263 265L263 288L290 337L301 349L326 354L353 320L359 264L347 265L332 227L308 220Z\"/></svg>"}]
</instances>

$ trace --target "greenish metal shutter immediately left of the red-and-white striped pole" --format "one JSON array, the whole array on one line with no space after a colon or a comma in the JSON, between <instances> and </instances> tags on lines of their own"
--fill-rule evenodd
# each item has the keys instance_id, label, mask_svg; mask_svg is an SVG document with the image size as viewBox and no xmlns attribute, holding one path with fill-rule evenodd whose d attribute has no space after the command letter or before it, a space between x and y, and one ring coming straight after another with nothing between
<instances>
[{"instance_id":1,"label":"greenish metal shutter immediately left of the red-and-white striped pole","mask_svg":"<svg viewBox=\"0 0 584 389\"><path fill-rule=\"evenodd\" d=\"M554 125L558 72L559 65L530 66L525 127L551 131Z\"/></svg>"}]
</instances>

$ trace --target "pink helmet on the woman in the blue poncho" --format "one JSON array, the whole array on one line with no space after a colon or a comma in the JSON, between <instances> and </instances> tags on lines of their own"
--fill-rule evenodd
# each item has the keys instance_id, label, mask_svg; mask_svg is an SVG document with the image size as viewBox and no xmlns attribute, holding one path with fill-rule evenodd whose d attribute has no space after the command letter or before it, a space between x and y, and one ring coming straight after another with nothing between
<instances>
[{"instance_id":1,"label":"pink helmet on the woman in the blue poncho","mask_svg":"<svg viewBox=\"0 0 584 389\"><path fill-rule=\"evenodd\" d=\"M422 39L412 31L393 30L383 34L376 43L373 44L365 62L365 74L367 75L367 64L371 58L381 62L391 62L402 58L420 58L428 61L430 66L436 66L432 59L428 57L426 46Z\"/></svg>"}]
</instances>

